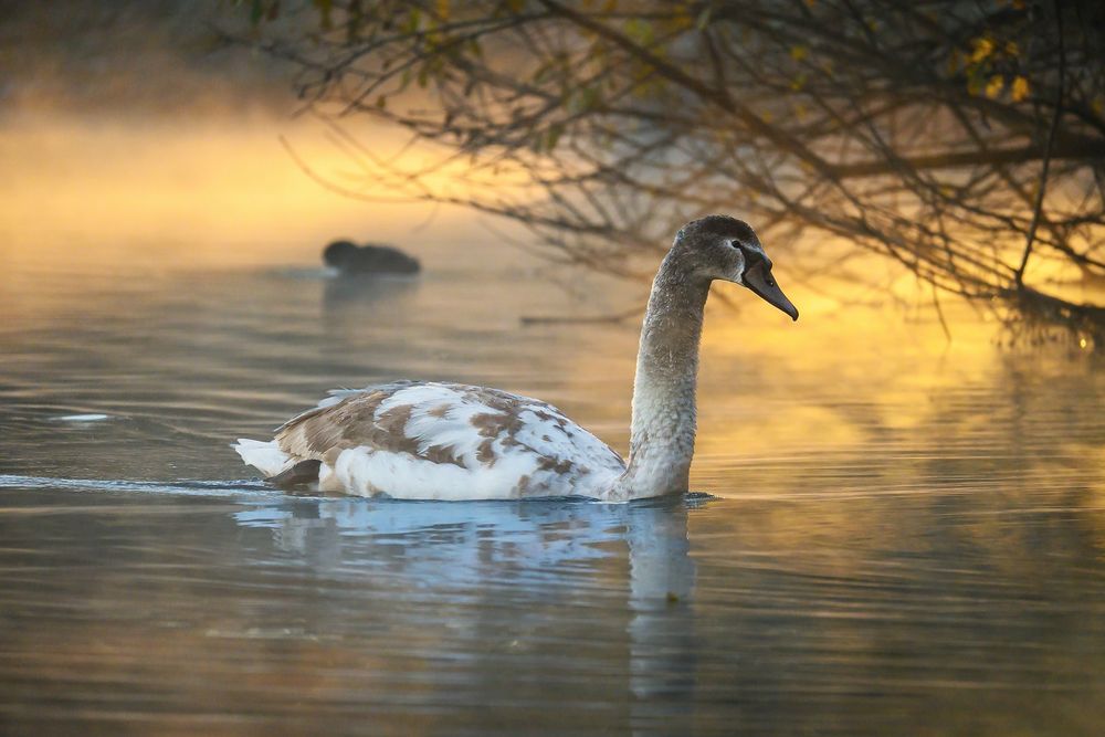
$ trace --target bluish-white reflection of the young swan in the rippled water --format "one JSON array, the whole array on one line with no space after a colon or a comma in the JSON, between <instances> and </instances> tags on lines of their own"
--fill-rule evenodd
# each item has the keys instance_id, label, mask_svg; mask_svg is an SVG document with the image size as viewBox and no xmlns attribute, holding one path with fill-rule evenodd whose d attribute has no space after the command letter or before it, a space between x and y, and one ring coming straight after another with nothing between
<instances>
[{"instance_id":1,"label":"bluish-white reflection of the young swan in the rippled water","mask_svg":"<svg viewBox=\"0 0 1105 737\"><path fill-rule=\"evenodd\" d=\"M623 653L624 718L634 734L653 734L685 719L694 695L687 518L701 504L306 498L253 506L235 520L270 530L280 551L317 573L382 589L372 592L372 617L389 629L464 639L475 674L502 673L504 653L581 657L572 649L588 622L566 628L565 610L601 602L601 617L624 618L624 642L610 643ZM411 601L418 622L409 621Z\"/></svg>"}]
</instances>

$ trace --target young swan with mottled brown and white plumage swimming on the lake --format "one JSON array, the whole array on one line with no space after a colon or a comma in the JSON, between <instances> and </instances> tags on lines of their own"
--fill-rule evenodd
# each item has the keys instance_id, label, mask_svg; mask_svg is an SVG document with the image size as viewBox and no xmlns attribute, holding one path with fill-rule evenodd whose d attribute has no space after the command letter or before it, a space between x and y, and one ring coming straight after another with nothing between
<instances>
[{"instance_id":1,"label":"young swan with mottled brown and white plumage swimming on the lake","mask_svg":"<svg viewBox=\"0 0 1105 737\"><path fill-rule=\"evenodd\" d=\"M684 225L652 285L633 382L629 461L540 400L498 389L393 381L336 390L242 460L276 485L407 499L582 496L628 502L687 491L703 310L714 280L792 319L753 229L727 215Z\"/></svg>"}]
</instances>

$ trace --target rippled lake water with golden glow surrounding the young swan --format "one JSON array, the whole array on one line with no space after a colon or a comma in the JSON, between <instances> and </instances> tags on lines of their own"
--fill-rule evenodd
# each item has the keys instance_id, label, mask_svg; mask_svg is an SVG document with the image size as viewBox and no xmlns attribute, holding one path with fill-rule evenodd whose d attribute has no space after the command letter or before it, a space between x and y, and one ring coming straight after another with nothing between
<instances>
[{"instance_id":1,"label":"rippled lake water with golden glow surrounding the young swan","mask_svg":"<svg viewBox=\"0 0 1105 737\"><path fill-rule=\"evenodd\" d=\"M375 283L113 228L0 233L0 733L1101 734L1099 357L723 287L688 498L290 496L229 443L397 377L624 450L636 320L444 228Z\"/></svg>"}]
</instances>

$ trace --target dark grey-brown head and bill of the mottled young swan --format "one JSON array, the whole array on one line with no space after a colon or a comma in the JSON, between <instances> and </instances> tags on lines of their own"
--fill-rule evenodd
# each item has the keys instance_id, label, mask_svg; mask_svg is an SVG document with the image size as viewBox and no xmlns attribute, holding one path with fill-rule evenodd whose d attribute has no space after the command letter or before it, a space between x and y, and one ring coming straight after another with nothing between
<instances>
[{"instance_id":1,"label":"dark grey-brown head and bill of the mottled young swan","mask_svg":"<svg viewBox=\"0 0 1105 737\"><path fill-rule=\"evenodd\" d=\"M695 276L746 286L768 304L798 319L798 308L776 284L771 260L748 223L728 215L692 220L680 229L672 251Z\"/></svg>"}]
</instances>

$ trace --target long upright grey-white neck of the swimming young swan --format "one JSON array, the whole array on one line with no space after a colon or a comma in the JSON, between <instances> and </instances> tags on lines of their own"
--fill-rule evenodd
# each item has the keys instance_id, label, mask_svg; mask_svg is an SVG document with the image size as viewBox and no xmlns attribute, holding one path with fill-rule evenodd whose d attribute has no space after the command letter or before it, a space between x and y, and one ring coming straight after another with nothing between
<instances>
[{"instance_id":1,"label":"long upright grey-white neck of the swimming young swan","mask_svg":"<svg viewBox=\"0 0 1105 737\"><path fill-rule=\"evenodd\" d=\"M698 340L709 282L670 253L656 274L633 381L629 465L615 493L628 498L685 492L694 455Z\"/></svg>"}]
</instances>

